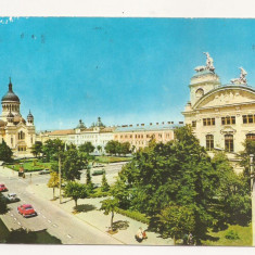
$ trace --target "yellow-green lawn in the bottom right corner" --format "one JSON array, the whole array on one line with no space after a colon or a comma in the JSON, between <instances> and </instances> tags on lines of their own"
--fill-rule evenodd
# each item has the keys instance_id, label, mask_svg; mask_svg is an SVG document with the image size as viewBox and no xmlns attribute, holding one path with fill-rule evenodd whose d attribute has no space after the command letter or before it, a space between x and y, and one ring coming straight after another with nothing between
<instances>
[{"instance_id":1,"label":"yellow-green lawn in the bottom right corner","mask_svg":"<svg viewBox=\"0 0 255 255\"><path fill-rule=\"evenodd\" d=\"M230 240L226 238L226 234L231 231L237 233L239 239ZM213 232L209 231L212 240L202 241L203 245L211 246L252 246L252 226L242 227L239 225L230 225L226 230ZM214 239L214 240L213 240Z\"/></svg>"}]
</instances>

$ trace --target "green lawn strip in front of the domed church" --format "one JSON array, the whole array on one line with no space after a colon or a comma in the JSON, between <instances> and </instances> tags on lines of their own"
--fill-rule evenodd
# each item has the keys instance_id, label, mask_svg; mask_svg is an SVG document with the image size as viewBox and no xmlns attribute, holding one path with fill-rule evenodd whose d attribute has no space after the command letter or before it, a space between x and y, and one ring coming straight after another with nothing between
<instances>
[{"instance_id":1,"label":"green lawn strip in front of the domed church","mask_svg":"<svg viewBox=\"0 0 255 255\"><path fill-rule=\"evenodd\" d=\"M36 163L34 163L34 161ZM38 171L44 168L51 168L52 163L53 162L44 163L38 160L26 160L26 161L16 161L12 165L7 165L7 167L18 171L20 167L23 166L26 171Z\"/></svg>"}]
</instances>

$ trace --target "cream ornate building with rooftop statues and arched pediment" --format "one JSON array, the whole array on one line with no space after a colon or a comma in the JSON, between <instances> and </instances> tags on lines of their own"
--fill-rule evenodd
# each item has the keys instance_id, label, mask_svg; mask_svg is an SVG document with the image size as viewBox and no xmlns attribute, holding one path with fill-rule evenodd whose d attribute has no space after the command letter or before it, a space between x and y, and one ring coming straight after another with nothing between
<instances>
[{"instance_id":1,"label":"cream ornate building with rooftop statues and arched pediment","mask_svg":"<svg viewBox=\"0 0 255 255\"><path fill-rule=\"evenodd\" d=\"M195 68L189 85L184 122L207 151L226 151L229 158L237 158L245 139L255 140L255 89L247 85L243 67L239 78L222 85L213 59L205 54L206 65Z\"/></svg>"}]
</instances>

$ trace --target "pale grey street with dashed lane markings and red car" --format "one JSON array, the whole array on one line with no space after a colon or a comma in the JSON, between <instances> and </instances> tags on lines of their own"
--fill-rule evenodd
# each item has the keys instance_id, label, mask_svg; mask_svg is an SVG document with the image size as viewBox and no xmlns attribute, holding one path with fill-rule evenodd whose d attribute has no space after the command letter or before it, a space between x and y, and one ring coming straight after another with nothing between
<instances>
[{"instance_id":1,"label":"pale grey street with dashed lane markings and red car","mask_svg":"<svg viewBox=\"0 0 255 255\"><path fill-rule=\"evenodd\" d=\"M63 244L123 244L120 241L105 232L79 220L71 214L53 205L50 201L35 196L27 188L34 184L47 183L49 175L28 174L25 179L18 178L17 173L0 167L0 182L4 183L9 192L14 192L21 199L20 202L9 204L9 213L3 215L3 220L9 228L27 228L33 231L47 229L47 231L59 238ZM4 194L3 193L3 194ZM23 218L17 213L21 204L31 204L38 216Z\"/></svg>"}]
</instances>

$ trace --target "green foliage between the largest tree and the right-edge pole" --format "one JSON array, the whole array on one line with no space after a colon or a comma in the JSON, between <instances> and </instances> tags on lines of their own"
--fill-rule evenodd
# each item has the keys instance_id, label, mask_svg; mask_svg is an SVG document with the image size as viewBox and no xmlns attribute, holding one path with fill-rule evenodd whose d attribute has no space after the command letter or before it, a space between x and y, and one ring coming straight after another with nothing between
<instances>
[{"instance_id":1,"label":"green foliage between the largest tree and the right-edge pole","mask_svg":"<svg viewBox=\"0 0 255 255\"><path fill-rule=\"evenodd\" d=\"M247 225L251 221L251 197L247 178L235 174L225 153L212 161L219 181L215 186L214 216L218 227L224 222Z\"/></svg>"}]
</instances>

